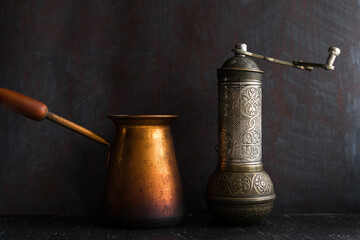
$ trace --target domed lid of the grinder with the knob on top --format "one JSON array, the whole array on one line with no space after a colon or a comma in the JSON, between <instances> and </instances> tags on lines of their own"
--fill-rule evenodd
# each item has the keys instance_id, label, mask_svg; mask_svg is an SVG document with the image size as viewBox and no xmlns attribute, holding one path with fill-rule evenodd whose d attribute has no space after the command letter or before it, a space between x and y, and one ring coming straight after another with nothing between
<instances>
[{"instance_id":1,"label":"domed lid of the grinder with the knob on top","mask_svg":"<svg viewBox=\"0 0 360 240\"><path fill-rule=\"evenodd\" d=\"M236 44L235 48L247 51L246 44ZM226 62L218 70L234 70L264 73L251 58L235 53L235 56L226 60Z\"/></svg>"}]
</instances>

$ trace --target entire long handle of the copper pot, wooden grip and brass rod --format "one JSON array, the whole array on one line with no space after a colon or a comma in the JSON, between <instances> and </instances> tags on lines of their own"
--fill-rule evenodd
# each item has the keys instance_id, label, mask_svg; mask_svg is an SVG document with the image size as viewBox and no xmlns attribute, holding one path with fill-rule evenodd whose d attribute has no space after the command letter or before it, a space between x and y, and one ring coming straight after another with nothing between
<instances>
[{"instance_id":1,"label":"entire long handle of the copper pot, wooden grip and brass rod","mask_svg":"<svg viewBox=\"0 0 360 240\"><path fill-rule=\"evenodd\" d=\"M111 144L104 138L76 123L49 112L48 107L44 103L21 93L0 88L0 105L35 121L48 119L93 141L111 147Z\"/></svg>"}]
</instances>

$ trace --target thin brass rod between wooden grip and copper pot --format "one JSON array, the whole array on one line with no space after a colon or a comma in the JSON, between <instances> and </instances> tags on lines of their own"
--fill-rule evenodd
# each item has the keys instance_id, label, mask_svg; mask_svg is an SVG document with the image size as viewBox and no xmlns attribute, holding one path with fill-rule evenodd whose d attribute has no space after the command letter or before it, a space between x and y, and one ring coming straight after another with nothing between
<instances>
[{"instance_id":1,"label":"thin brass rod between wooden grip and copper pot","mask_svg":"<svg viewBox=\"0 0 360 240\"><path fill-rule=\"evenodd\" d=\"M74 131L80 135L83 135L84 137L87 137L95 142L98 142L103 145L111 147L111 144L107 140L100 137L96 133L93 133L93 132L89 131L88 129L86 129L80 125L77 125L76 123L73 123L65 118L62 118L54 113L48 112L46 114L46 119L48 119L56 124L59 124L67 129L70 129L71 131Z\"/></svg>"}]
</instances>

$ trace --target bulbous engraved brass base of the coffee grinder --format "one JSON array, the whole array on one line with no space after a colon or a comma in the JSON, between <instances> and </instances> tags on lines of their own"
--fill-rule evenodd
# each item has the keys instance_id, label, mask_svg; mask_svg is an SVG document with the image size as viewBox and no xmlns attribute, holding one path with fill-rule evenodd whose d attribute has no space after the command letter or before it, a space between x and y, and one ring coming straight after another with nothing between
<instances>
[{"instance_id":1,"label":"bulbous engraved brass base of the coffee grinder","mask_svg":"<svg viewBox=\"0 0 360 240\"><path fill-rule=\"evenodd\" d=\"M276 196L269 175L259 164L218 166L209 179L206 198L215 217L247 225L269 216Z\"/></svg>"}]
</instances>

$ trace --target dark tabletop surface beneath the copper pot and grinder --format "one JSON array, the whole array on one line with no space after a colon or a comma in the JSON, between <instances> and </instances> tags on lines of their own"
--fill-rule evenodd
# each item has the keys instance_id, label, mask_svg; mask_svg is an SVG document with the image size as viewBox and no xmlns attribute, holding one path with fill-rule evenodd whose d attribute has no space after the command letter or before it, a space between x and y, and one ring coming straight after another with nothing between
<instances>
[{"instance_id":1,"label":"dark tabletop surface beneath the copper pot and grinder","mask_svg":"<svg viewBox=\"0 0 360 240\"><path fill-rule=\"evenodd\" d=\"M360 215L272 215L246 227L188 216L180 226L159 229L109 228L101 217L1 216L0 239L360 239Z\"/></svg>"}]
</instances>

